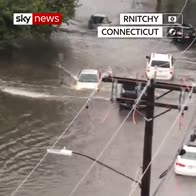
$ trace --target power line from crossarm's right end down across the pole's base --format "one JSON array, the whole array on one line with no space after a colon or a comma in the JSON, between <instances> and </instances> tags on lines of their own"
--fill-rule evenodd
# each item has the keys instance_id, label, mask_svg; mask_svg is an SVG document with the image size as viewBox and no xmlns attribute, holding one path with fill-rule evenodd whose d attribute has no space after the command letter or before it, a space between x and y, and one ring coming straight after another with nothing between
<instances>
[{"instance_id":1,"label":"power line from crossarm's right end down across the pole's base","mask_svg":"<svg viewBox=\"0 0 196 196\"><path fill-rule=\"evenodd\" d=\"M182 113L184 112L184 108L186 107L186 105L188 104L188 102L190 102L190 99L191 99L191 95L193 93L193 90L194 90L194 87L195 85L192 86L192 89L191 91L189 92L189 95L185 101L185 103L183 104L183 106L181 107L180 109L180 112L178 113L176 119L174 120L173 124L171 125L170 129L168 130L168 132L166 133L165 137L163 138L162 142L160 143L159 147L157 148L156 152L154 153L150 163L148 164L146 170L143 172L143 174L141 175L140 177L140 180L142 180L143 176L145 175L145 173L147 172L148 168L150 167L150 165L152 164L152 162L154 161L154 159L156 158L156 156L158 155L158 153L160 152L161 150L161 147L163 146L163 144L165 143L166 139L168 138L168 136L171 134L171 131L173 130L178 118L182 115ZM137 188L137 184L133 187L133 189L131 189L130 193L129 193L129 196L132 196L134 191L136 190Z\"/></svg>"}]
</instances>

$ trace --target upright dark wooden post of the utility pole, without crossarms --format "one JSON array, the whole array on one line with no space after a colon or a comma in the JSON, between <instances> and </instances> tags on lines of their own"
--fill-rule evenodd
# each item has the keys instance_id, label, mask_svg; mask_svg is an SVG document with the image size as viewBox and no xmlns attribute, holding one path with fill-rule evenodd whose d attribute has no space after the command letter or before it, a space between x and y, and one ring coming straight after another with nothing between
<instances>
[{"instance_id":1,"label":"upright dark wooden post of the utility pole, without crossarms","mask_svg":"<svg viewBox=\"0 0 196 196\"><path fill-rule=\"evenodd\" d=\"M153 118L154 118L154 80L151 80L150 86L146 91L146 122L144 133L143 147L143 178L141 183L141 196L150 195L150 179L151 179L151 157L152 157L152 139L153 139Z\"/></svg>"}]
</instances>

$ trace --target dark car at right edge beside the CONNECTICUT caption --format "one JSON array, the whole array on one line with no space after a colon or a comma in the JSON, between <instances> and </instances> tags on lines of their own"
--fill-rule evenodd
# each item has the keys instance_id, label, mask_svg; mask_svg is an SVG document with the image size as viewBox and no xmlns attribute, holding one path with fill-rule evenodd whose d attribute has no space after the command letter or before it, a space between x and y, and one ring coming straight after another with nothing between
<instances>
[{"instance_id":1,"label":"dark car at right edge beside the CONNECTICUT caption","mask_svg":"<svg viewBox=\"0 0 196 196\"><path fill-rule=\"evenodd\" d=\"M191 24L175 24L168 28L168 36L175 42L185 43L196 38L196 31Z\"/></svg>"}]
</instances>

